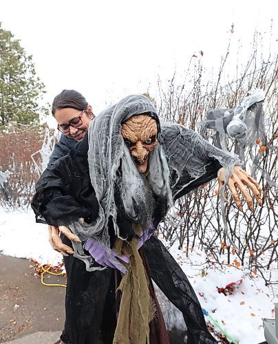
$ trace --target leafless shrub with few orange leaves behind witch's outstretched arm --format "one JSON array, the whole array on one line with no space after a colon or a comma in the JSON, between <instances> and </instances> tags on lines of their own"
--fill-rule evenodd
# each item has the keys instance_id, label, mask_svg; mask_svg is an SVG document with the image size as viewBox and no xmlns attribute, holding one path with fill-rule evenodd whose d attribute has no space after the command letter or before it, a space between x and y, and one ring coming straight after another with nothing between
<instances>
[{"instance_id":1,"label":"leafless shrub with few orange leaves behind witch's outstretched arm","mask_svg":"<svg viewBox=\"0 0 278 344\"><path fill-rule=\"evenodd\" d=\"M271 36L271 35L270 35ZM222 58L217 76L208 79L208 72L202 65L202 54L193 56L189 69L178 83L177 75L162 85L158 80L159 98L156 104L160 116L165 120L178 122L199 131L197 123L204 120L205 112L213 108L233 108L239 100L256 88L264 89L266 99L266 137L262 142L246 149L244 168L253 173L262 186L263 206L254 202L254 213L239 213L231 198L226 203L226 219L233 242L239 250L229 244L220 213L220 202L215 190L215 181L190 195L182 197L167 215L160 230L171 246L178 241L179 247L187 255L194 248L206 252L207 264L233 264L247 266L250 272L260 273L266 284L272 281L270 268L277 268L278 214L277 214L277 55L263 54L263 36L254 34L253 49L242 66L237 65L233 75L227 80L226 63L230 53L230 42ZM240 59L240 56L239 56ZM243 60L242 60L243 61ZM211 81L215 80L215 81ZM206 133L213 142L213 132ZM228 140L228 151L234 151L235 142ZM276 202L276 208L275 208Z\"/></svg>"}]
</instances>

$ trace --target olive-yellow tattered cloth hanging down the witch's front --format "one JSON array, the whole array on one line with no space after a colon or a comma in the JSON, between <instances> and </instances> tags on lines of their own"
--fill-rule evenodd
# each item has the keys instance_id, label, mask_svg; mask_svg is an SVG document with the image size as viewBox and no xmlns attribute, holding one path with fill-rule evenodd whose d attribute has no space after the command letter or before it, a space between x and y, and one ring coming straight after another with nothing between
<instances>
[{"instance_id":1,"label":"olive-yellow tattered cloth hanging down the witch's front","mask_svg":"<svg viewBox=\"0 0 278 344\"><path fill-rule=\"evenodd\" d=\"M139 228L138 232L141 233ZM122 298L113 344L149 344L149 323L156 308L149 294L149 279L137 249L138 241L127 243L117 239L114 246L117 254L126 255L130 262L118 287Z\"/></svg>"}]
</instances>

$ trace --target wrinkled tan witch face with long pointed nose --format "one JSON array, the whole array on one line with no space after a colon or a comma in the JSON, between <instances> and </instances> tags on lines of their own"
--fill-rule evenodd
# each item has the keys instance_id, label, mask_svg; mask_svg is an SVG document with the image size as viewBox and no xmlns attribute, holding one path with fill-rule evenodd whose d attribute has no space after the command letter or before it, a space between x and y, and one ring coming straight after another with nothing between
<instances>
[{"instance_id":1,"label":"wrinkled tan witch face with long pointed nose","mask_svg":"<svg viewBox=\"0 0 278 344\"><path fill-rule=\"evenodd\" d=\"M156 120L147 115L134 115L122 123L122 137L140 173L148 168L149 152L158 144Z\"/></svg>"}]
</instances>

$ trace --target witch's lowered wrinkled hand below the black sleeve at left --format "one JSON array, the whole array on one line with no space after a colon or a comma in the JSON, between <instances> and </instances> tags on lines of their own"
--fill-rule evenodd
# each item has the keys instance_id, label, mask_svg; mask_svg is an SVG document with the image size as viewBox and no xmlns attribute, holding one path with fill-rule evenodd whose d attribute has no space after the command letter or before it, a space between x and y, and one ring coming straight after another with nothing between
<instances>
[{"instance_id":1,"label":"witch's lowered wrinkled hand below the black sleeve at left","mask_svg":"<svg viewBox=\"0 0 278 344\"><path fill-rule=\"evenodd\" d=\"M59 233L62 233L71 241L81 242L78 236L73 234L66 226L48 226L48 232L52 248L54 248L54 250L57 252L60 252L65 257L74 254L74 250L72 250L71 247L63 244L61 237L59 237Z\"/></svg>"}]
</instances>

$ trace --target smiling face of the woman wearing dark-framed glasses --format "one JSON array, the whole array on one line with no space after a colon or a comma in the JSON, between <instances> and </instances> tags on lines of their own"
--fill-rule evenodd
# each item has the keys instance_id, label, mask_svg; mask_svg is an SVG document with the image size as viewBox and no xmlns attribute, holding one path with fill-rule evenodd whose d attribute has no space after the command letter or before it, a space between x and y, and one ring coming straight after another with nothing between
<instances>
[{"instance_id":1,"label":"smiling face of the woman wearing dark-framed glasses","mask_svg":"<svg viewBox=\"0 0 278 344\"><path fill-rule=\"evenodd\" d=\"M92 112L92 107L88 106L87 111ZM85 111L72 109L72 107L65 107L65 109L56 109L54 116L56 118L56 121L58 122L58 125L65 125L63 126L65 129L67 129L67 125L69 125L71 120L80 117L82 124L78 127L72 127L71 125L69 125L68 131L65 132L65 136L67 136L67 138L72 138L77 142L83 140L85 133L87 133L89 129L89 123L92 121L92 119L87 116L87 113ZM74 122L76 121L78 122L78 120L75 120Z\"/></svg>"}]
</instances>

